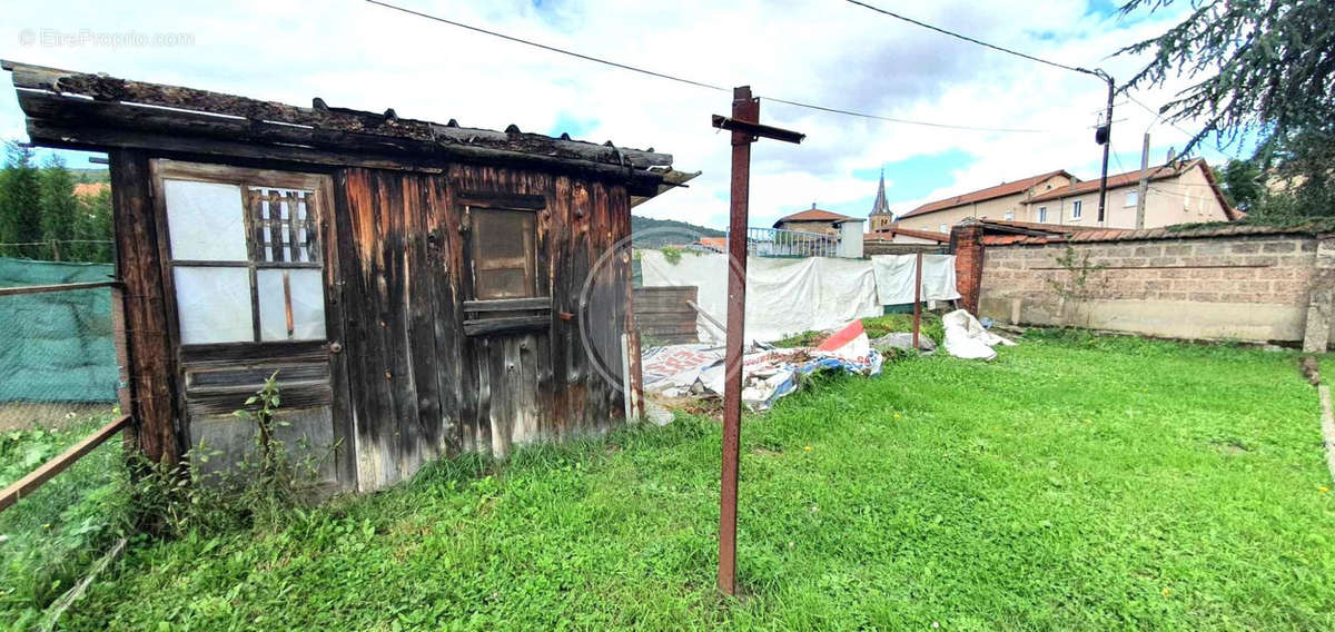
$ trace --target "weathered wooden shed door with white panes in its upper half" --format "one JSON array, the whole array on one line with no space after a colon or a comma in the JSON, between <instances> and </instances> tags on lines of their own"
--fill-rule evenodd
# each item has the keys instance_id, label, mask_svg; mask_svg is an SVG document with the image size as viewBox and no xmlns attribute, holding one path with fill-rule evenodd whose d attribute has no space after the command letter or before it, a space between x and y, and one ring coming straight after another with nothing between
<instances>
[{"instance_id":1,"label":"weathered wooden shed door with white panes in its upper half","mask_svg":"<svg viewBox=\"0 0 1335 632\"><path fill-rule=\"evenodd\" d=\"M155 160L154 199L167 226L160 247L187 448L212 454L198 461L206 472L252 457L254 424L232 413L276 374L278 438L323 481L338 481L330 178Z\"/></svg>"}]
</instances>

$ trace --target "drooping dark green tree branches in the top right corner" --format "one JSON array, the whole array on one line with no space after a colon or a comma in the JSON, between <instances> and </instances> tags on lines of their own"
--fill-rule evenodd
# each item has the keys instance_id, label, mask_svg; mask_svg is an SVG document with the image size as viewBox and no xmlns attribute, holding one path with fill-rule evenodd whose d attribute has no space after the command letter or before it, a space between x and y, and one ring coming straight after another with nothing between
<instances>
[{"instance_id":1,"label":"drooping dark green tree branches in the top right corner","mask_svg":"<svg viewBox=\"0 0 1335 632\"><path fill-rule=\"evenodd\" d=\"M1155 12L1172 3L1129 0L1121 12ZM1120 51L1152 53L1121 90L1191 79L1161 108L1169 120L1203 122L1185 152L1207 138L1216 138L1220 147L1256 138L1254 167L1274 186L1252 200L1254 214L1335 215L1331 24L1330 0L1195 0L1181 23Z\"/></svg>"}]
</instances>

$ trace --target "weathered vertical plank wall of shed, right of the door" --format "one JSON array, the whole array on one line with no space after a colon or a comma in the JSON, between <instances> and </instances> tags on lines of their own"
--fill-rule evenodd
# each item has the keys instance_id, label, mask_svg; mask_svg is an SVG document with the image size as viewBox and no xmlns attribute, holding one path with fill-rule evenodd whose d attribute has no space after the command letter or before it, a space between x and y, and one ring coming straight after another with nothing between
<instances>
[{"instance_id":1,"label":"weathered vertical plank wall of shed, right of the door","mask_svg":"<svg viewBox=\"0 0 1335 632\"><path fill-rule=\"evenodd\" d=\"M550 323L465 335L467 227L457 195L523 194L537 211L538 294ZM410 477L461 450L506 456L515 445L601 432L623 418L621 391L595 370L579 334L589 271L629 235L621 186L502 167L446 174L347 168L335 179L348 409L360 489ZM629 262L595 277L587 327L619 374Z\"/></svg>"}]
</instances>

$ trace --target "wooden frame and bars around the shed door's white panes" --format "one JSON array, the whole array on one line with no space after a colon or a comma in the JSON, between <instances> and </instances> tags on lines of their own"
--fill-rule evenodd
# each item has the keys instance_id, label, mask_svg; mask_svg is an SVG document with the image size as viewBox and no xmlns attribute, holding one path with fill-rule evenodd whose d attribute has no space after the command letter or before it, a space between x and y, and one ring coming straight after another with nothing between
<instances>
[{"instance_id":1,"label":"wooden frame and bars around the shed door's white panes","mask_svg":"<svg viewBox=\"0 0 1335 632\"><path fill-rule=\"evenodd\" d=\"M324 342L328 339L328 289L326 270L326 251L331 247L324 235L326 214L330 203L330 179L319 174L304 174L295 171L270 171L247 167L234 167L212 163L190 163L170 159L152 160L152 186L156 215L160 228L160 249L163 253L164 285L171 299L174 334L182 347L203 347L212 345L290 345L294 342ZM168 219L166 188L168 180L195 182L207 184L235 186L242 195L243 238L246 239L244 259L178 259L172 253L172 226ZM282 192L286 195L278 195ZM283 206L300 203L304 206L304 219L299 226L294 216L295 207L290 207L288 219L283 219L282 212L268 215L270 207L262 206L266 202L282 202ZM260 215L264 215L260 218ZM282 232L275 232L278 228ZM300 232L299 232L300 231ZM278 238L275 241L275 236ZM286 261L292 253L299 253L304 261ZM278 261L282 258L283 261ZM250 337L242 339L196 341L186 342L183 321L180 317L180 297L176 289L176 271L179 269L222 269L244 270L247 277L250 302ZM266 338L264 322L262 319L262 297L259 294L260 279L264 271L283 271L282 307L286 317L286 338ZM288 271L315 271L319 278L320 301L319 314L315 322L319 325L318 337L296 335L294 282ZM308 274L308 273L307 273Z\"/></svg>"}]
</instances>

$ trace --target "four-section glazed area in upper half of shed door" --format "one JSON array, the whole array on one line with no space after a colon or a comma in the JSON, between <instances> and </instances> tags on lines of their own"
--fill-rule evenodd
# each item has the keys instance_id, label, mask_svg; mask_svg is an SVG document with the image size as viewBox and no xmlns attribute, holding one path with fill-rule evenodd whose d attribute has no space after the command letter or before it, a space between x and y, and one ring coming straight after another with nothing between
<instances>
[{"instance_id":1,"label":"four-section glazed area in upper half of shed door","mask_svg":"<svg viewBox=\"0 0 1335 632\"><path fill-rule=\"evenodd\" d=\"M162 180L183 345L324 339L315 192Z\"/></svg>"}]
</instances>

